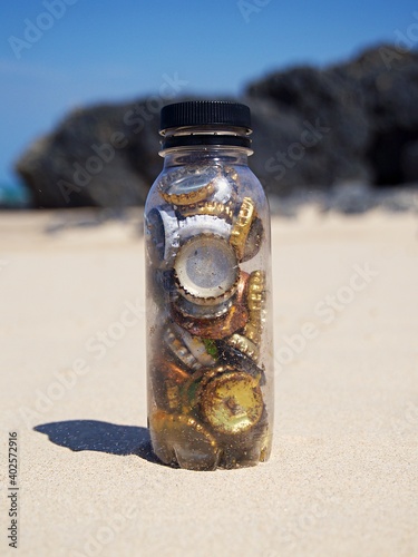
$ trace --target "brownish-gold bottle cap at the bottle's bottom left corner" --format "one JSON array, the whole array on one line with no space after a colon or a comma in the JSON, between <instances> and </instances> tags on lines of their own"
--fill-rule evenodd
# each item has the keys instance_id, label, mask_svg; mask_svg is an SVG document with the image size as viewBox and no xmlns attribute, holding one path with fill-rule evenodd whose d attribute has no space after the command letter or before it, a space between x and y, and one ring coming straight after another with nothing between
<instances>
[{"instance_id":1,"label":"brownish-gold bottle cap at the bottle's bottom left corner","mask_svg":"<svg viewBox=\"0 0 418 557\"><path fill-rule=\"evenodd\" d=\"M154 411L149 417L153 449L166 465L214 470L218 462L215 438L191 416Z\"/></svg>"}]
</instances>

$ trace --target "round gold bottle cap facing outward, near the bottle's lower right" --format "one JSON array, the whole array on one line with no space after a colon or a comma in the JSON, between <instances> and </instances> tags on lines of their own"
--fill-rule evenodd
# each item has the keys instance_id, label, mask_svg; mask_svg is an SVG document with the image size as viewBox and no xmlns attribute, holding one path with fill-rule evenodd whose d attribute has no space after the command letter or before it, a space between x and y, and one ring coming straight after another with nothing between
<instances>
[{"instance_id":1,"label":"round gold bottle cap facing outward, near the bottle's lower right","mask_svg":"<svg viewBox=\"0 0 418 557\"><path fill-rule=\"evenodd\" d=\"M218 433L249 431L260 420L264 403L254 379L242 371L215 377L202 391L200 405L205 421Z\"/></svg>"}]
</instances>

